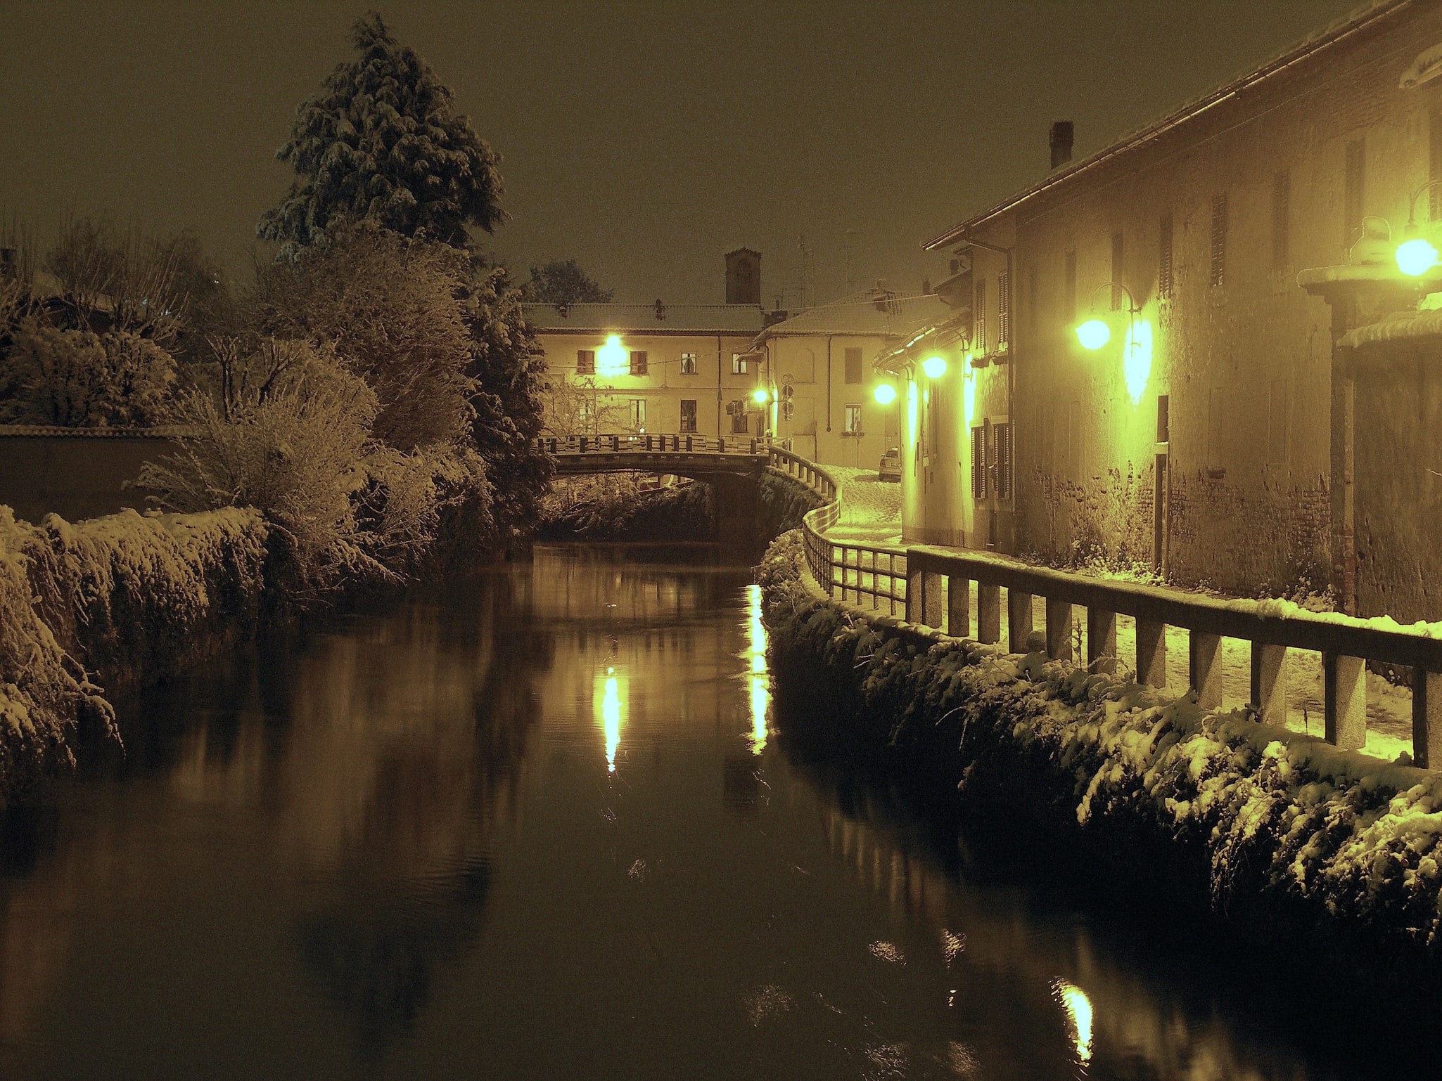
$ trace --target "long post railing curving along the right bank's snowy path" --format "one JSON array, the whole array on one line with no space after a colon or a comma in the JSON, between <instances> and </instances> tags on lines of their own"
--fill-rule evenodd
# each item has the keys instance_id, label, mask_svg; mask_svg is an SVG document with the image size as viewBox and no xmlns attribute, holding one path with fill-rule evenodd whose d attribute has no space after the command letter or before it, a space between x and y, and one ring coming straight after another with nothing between
<instances>
[{"instance_id":1,"label":"long post railing curving along the right bank's snowy path","mask_svg":"<svg viewBox=\"0 0 1442 1081\"><path fill-rule=\"evenodd\" d=\"M1118 656L1118 615L1136 626L1136 680L1167 686L1167 628L1187 631L1188 689L1198 705L1221 706L1224 639L1252 653L1250 708L1257 719L1286 722L1289 653L1322 659L1324 738L1347 749L1367 741L1367 662L1412 669L1412 758L1442 767L1442 626L1399 627L1311 613L1278 601L1221 600L1135 582L1103 581L1021 564L991 552L926 545L870 545L826 536L839 516L836 483L823 468L773 448L770 464L806 483L823 503L803 519L806 562L828 595L862 608L903 613L955 637L996 643L1007 602L1007 646L1027 653L1044 641L1047 656L1071 660L1073 607L1086 610L1086 662ZM976 584L975 624L970 585ZM1043 598L1044 634L1034 634L1034 598ZM1077 659L1080 660L1080 659Z\"/></svg>"}]
</instances>

